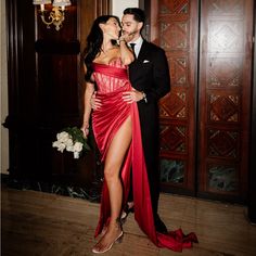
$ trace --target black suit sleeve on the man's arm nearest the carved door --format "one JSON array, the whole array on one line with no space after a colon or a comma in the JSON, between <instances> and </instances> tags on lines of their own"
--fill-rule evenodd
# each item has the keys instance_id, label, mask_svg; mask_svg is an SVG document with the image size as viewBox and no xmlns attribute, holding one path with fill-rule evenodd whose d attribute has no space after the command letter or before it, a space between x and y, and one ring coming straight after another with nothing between
<instances>
[{"instance_id":1,"label":"black suit sleeve on the man's arm nearest the carved door","mask_svg":"<svg viewBox=\"0 0 256 256\"><path fill-rule=\"evenodd\" d=\"M145 91L148 102L158 101L170 91L170 76L165 51L161 48L154 52L153 87Z\"/></svg>"}]
</instances>

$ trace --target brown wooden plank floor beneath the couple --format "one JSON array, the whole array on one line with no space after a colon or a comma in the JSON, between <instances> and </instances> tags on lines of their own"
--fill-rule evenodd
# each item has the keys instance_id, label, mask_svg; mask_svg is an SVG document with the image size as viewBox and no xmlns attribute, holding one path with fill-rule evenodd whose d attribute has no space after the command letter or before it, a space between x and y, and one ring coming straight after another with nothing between
<instances>
[{"instance_id":1,"label":"brown wooden plank floor beneath the couple","mask_svg":"<svg viewBox=\"0 0 256 256\"><path fill-rule=\"evenodd\" d=\"M7 188L1 199L2 256L94 255L99 204ZM162 194L159 214L169 229L196 232L200 243L182 254L157 248L130 215L123 243L104 255L256 255L256 227L247 222L246 207Z\"/></svg>"}]
</instances>

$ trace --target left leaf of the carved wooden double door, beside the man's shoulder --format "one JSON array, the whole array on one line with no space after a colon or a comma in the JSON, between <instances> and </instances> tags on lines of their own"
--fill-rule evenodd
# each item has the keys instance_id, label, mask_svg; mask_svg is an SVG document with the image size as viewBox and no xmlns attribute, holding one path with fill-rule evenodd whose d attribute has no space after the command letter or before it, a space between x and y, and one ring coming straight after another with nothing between
<instances>
[{"instance_id":1,"label":"left leaf of the carved wooden double door, beside the man's shoulder","mask_svg":"<svg viewBox=\"0 0 256 256\"><path fill-rule=\"evenodd\" d=\"M151 40L166 51L171 78L159 102L162 189L194 194L197 1L151 4Z\"/></svg>"}]
</instances>

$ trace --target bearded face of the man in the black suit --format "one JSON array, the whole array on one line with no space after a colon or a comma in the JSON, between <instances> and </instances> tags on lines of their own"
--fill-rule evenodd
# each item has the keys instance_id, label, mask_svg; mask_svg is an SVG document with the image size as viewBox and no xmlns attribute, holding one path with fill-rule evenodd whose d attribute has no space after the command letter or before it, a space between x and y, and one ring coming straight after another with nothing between
<instances>
[{"instance_id":1,"label":"bearded face of the man in the black suit","mask_svg":"<svg viewBox=\"0 0 256 256\"><path fill-rule=\"evenodd\" d=\"M123 34L130 35L130 41L136 40L140 36L142 23L133 20L132 14L125 14L121 18Z\"/></svg>"}]
</instances>

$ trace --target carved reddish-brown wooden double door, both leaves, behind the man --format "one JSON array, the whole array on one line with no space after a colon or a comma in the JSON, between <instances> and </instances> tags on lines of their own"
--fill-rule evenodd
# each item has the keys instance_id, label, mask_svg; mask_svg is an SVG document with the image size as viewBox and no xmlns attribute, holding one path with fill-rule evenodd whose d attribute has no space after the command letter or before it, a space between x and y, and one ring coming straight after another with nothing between
<instances>
[{"instance_id":1,"label":"carved reddish-brown wooden double door, both leaves, behind the man","mask_svg":"<svg viewBox=\"0 0 256 256\"><path fill-rule=\"evenodd\" d=\"M151 0L150 24L171 77L159 103L163 191L243 202L253 0Z\"/></svg>"}]
</instances>

